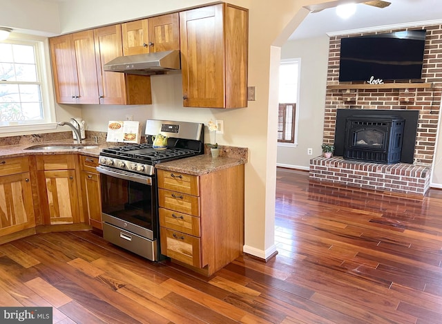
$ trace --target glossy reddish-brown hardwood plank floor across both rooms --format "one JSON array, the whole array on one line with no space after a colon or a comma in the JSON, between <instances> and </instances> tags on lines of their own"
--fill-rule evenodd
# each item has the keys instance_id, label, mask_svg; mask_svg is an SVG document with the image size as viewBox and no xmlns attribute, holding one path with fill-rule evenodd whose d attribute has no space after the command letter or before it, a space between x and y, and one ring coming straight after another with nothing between
<instances>
[{"instance_id":1,"label":"glossy reddish-brown hardwood plank floor across both rooms","mask_svg":"<svg viewBox=\"0 0 442 324\"><path fill-rule=\"evenodd\" d=\"M278 169L276 244L206 278L88 231L0 245L0 305L54 323L442 323L442 191L425 198L309 183Z\"/></svg>"}]
</instances>

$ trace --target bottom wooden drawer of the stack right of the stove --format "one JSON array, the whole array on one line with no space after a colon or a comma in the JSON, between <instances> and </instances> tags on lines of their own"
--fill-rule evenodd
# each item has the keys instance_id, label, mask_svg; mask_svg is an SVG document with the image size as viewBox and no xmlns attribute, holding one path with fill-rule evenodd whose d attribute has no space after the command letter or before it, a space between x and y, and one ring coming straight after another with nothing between
<instances>
[{"instance_id":1,"label":"bottom wooden drawer of the stack right of the stove","mask_svg":"<svg viewBox=\"0 0 442 324\"><path fill-rule=\"evenodd\" d=\"M187 265L202 267L200 238L183 234L180 231L172 231L164 227L160 227L160 237L161 254L186 263Z\"/></svg>"}]
</instances>

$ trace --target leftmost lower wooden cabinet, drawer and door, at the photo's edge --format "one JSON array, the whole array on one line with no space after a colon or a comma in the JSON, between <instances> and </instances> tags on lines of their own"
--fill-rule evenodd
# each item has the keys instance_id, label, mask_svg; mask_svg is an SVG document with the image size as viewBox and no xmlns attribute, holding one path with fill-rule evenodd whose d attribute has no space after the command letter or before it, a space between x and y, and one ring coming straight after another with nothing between
<instances>
[{"instance_id":1,"label":"leftmost lower wooden cabinet, drawer and door, at the photo's edge","mask_svg":"<svg viewBox=\"0 0 442 324\"><path fill-rule=\"evenodd\" d=\"M28 158L0 160L0 237L35 227Z\"/></svg>"}]
</instances>

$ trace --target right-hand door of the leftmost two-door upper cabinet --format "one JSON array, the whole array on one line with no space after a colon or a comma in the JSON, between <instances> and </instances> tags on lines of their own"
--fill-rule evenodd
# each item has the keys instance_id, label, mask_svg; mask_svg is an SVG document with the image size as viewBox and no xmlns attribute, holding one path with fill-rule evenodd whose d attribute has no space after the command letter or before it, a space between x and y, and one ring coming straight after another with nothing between
<instances>
[{"instance_id":1,"label":"right-hand door of the leftmost two-door upper cabinet","mask_svg":"<svg viewBox=\"0 0 442 324\"><path fill-rule=\"evenodd\" d=\"M71 36L75 53L74 73L78 82L76 103L99 104L93 31L76 32Z\"/></svg>"}]
</instances>

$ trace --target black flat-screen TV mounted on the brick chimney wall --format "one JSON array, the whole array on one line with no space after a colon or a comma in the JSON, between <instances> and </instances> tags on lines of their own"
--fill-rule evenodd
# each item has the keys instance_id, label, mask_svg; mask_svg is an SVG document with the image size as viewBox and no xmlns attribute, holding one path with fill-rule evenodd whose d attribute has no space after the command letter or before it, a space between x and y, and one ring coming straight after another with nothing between
<instances>
[{"instance_id":1,"label":"black flat-screen TV mounted on the brick chimney wall","mask_svg":"<svg viewBox=\"0 0 442 324\"><path fill-rule=\"evenodd\" d=\"M421 79L425 33L409 30L341 39L339 81Z\"/></svg>"}]
</instances>

